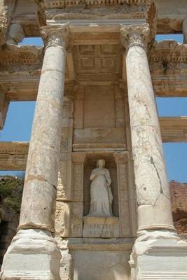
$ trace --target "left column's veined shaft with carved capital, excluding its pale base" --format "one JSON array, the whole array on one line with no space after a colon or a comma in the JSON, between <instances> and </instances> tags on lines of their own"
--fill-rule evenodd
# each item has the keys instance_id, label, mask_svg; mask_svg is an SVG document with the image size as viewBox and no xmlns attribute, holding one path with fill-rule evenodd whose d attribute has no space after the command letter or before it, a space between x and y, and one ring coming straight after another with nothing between
<instances>
[{"instance_id":1,"label":"left column's veined shaft with carved capital, excluding its pale base","mask_svg":"<svg viewBox=\"0 0 187 280\"><path fill-rule=\"evenodd\" d=\"M19 229L54 231L68 27L42 27L46 40L29 145Z\"/></svg>"}]
</instances>

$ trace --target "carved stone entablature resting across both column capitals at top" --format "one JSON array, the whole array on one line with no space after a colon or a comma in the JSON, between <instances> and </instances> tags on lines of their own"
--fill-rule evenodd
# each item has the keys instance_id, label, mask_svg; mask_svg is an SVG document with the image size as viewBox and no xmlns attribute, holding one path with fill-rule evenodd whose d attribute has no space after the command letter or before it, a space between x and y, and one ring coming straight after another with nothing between
<instances>
[{"instance_id":1,"label":"carved stone entablature resting across both column capitals at top","mask_svg":"<svg viewBox=\"0 0 187 280\"><path fill-rule=\"evenodd\" d=\"M47 23L75 20L148 19L147 0L65 0L39 3L39 18Z\"/></svg>"}]
</instances>

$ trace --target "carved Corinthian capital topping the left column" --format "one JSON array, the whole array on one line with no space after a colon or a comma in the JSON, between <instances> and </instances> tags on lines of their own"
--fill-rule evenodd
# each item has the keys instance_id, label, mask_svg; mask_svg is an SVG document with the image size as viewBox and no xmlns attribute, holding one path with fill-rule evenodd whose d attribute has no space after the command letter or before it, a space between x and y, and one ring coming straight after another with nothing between
<instances>
[{"instance_id":1,"label":"carved Corinthian capital topping the left column","mask_svg":"<svg viewBox=\"0 0 187 280\"><path fill-rule=\"evenodd\" d=\"M69 24L43 26L41 27L41 34L46 48L60 45L65 50L69 43Z\"/></svg>"}]
</instances>

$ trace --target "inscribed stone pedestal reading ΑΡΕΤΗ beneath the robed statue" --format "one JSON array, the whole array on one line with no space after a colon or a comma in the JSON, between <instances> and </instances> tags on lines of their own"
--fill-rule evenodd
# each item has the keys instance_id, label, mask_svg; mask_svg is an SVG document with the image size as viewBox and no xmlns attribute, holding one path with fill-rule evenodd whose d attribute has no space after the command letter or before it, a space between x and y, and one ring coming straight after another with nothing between
<instances>
[{"instance_id":1,"label":"inscribed stone pedestal reading \u0391\u03a1\u0395\u03a4\u0397 beneath the robed statue","mask_svg":"<svg viewBox=\"0 0 187 280\"><path fill-rule=\"evenodd\" d=\"M86 216L83 218L83 223L83 237L119 237L118 217Z\"/></svg>"}]
</instances>

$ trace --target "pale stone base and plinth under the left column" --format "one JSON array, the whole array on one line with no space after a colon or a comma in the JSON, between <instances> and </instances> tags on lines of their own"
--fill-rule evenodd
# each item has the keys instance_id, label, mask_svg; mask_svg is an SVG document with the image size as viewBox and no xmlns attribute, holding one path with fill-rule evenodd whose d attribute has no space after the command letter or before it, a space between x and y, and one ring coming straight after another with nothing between
<instances>
[{"instance_id":1,"label":"pale stone base and plinth under the left column","mask_svg":"<svg viewBox=\"0 0 187 280\"><path fill-rule=\"evenodd\" d=\"M60 251L46 230L19 230L4 255L1 280L60 280Z\"/></svg>"}]
</instances>

